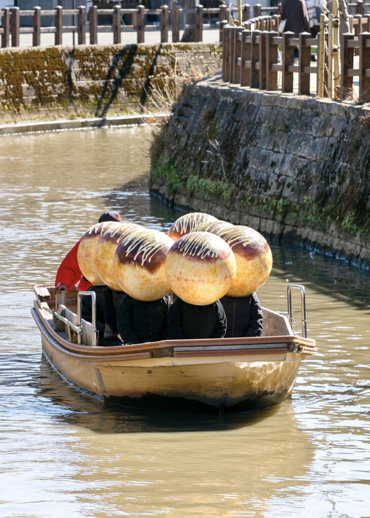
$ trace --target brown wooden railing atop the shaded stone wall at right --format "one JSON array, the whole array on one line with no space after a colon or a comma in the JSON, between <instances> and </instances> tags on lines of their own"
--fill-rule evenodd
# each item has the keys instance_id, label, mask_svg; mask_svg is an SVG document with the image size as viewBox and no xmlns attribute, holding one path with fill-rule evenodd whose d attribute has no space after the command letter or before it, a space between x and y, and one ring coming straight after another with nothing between
<instances>
[{"instance_id":1,"label":"brown wooden railing atop the shaded stone wall at right","mask_svg":"<svg viewBox=\"0 0 370 518\"><path fill-rule=\"evenodd\" d=\"M311 49L317 47L317 55L320 54L319 37L313 39L310 34L302 33L295 38L291 32L279 35L279 20L279 16L258 17L248 20L243 27L224 26L223 81L260 90L291 93L294 74L297 74L297 93L310 95L311 75L315 74L316 87L313 93L318 95L318 68L316 63L311 62ZM357 28L357 35L344 34L340 41L340 91L336 94L341 99L351 99L353 77L359 77L359 99L369 101L370 15L353 17L352 26ZM294 59L295 48L298 49L297 60ZM359 54L359 68L353 67L355 50ZM278 84L279 73L281 86Z\"/></svg>"}]
</instances>

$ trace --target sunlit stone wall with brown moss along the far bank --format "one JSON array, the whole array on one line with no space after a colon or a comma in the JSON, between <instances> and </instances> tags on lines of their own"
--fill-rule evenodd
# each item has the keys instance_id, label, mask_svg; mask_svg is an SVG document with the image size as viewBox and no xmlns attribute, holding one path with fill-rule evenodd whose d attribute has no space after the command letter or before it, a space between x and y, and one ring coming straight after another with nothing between
<instances>
[{"instance_id":1,"label":"sunlit stone wall with brown moss along the far bank","mask_svg":"<svg viewBox=\"0 0 370 518\"><path fill-rule=\"evenodd\" d=\"M220 67L218 44L0 49L0 121L137 113L153 88Z\"/></svg>"}]
</instances>

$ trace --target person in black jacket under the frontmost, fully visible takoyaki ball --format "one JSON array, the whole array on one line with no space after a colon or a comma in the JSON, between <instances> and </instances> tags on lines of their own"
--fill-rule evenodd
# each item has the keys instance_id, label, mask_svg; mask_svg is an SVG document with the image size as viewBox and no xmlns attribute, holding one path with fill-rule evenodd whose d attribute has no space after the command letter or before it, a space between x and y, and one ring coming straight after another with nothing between
<instances>
[{"instance_id":1,"label":"person in black jacket under the frontmost, fully visible takoyaki ball","mask_svg":"<svg viewBox=\"0 0 370 518\"><path fill-rule=\"evenodd\" d=\"M225 332L226 315L219 300L195 306L177 297L168 311L168 333L173 340L222 338Z\"/></svg>"}]
</instances>

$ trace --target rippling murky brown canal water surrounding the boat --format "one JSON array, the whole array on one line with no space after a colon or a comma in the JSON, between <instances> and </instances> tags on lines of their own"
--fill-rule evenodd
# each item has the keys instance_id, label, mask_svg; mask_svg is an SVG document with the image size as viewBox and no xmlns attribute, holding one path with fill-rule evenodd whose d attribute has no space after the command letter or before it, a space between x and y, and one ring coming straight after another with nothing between
<instances>
[{"instance_id":1,"label":"rippling murky brown canal water surrounding the boat","mask_svg":"<svg viewBox=\"0 0 370 518\"><path fill-rule=\"evenodd\" d=\"M42 359L33 285L107 210L165 231L148 194L148 127L0 139L0 516L360 518L369 506L367 271L274 243L262 305L303 283L308 336L293 397L203 415L104 406ZM294 294L295 329L301 329ZM180 409L179 409L180 410Z\"/></svg>"}]
</instances>

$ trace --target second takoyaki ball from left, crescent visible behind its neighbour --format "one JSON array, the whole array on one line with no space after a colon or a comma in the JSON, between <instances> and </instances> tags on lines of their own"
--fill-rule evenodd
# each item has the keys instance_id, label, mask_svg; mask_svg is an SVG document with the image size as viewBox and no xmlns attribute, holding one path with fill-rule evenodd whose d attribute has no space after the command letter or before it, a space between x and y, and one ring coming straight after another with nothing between
<instances>
[{"instance_id":1,"label":"second takoyaki ball from left, crescent visible behind its neighbour","mask_svg":"<svg viewBox=\"0 0 370 518\"><path fill-rule=\"evenodd\" d=\"M103 283L110 287L111 290L121 291L121 287L113 272L113 256L120 242L133 231L140 229L143 230L143 227L136 223L113 223L97 242L95 249L97 273Z\"/></svg>"}]
</instances>

